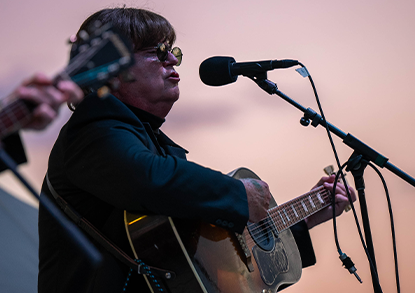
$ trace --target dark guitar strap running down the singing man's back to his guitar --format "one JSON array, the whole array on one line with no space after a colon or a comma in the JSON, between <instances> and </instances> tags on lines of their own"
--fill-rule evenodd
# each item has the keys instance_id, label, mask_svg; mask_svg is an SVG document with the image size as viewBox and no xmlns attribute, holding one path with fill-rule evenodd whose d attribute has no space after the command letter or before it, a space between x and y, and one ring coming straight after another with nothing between
<instances>
[{"instance_id":1,"label":"dark guitar strap running down the singing man's back to his guitar","mask_svg":"<svg viewBox=\"0 0 415 293\"><path fill-rule=\"evenodd\" d=\"M168 270L163 270L155 267L145 265L143 262L136 262L105 235L103 235L97 228L94 227L87 219L82 217L71 205L69 205L53 188L50 183L48 173L46 173L46 182L48 184L49 191L52 193L59 207L65 212L66 215L71 218L79 227L88 233L95 241L101 244L106 250L114 255L119 261L130 267L132 270L139 274L148 275L150 273L157 273L162 278L173 279L175 273Z\"/></svg>"}]
</instances>

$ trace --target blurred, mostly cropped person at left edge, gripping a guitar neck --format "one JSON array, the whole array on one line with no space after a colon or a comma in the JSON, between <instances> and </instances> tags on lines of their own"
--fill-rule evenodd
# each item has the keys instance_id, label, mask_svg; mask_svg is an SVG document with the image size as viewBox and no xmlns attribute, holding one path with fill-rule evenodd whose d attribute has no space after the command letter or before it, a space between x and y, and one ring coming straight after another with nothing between
<instances>
[{"instance_id":1,"label":"blurred, mostly cropped person at left edge, gripping a guitar neck","mask_svg":"<svg viewBox=\"0 0 415 293\"><path fill-rule=\"evenodd\" d=\"M61 104L65 102L78 103L83 96L81 89L72 81L62 80L55 87L53 80L42 73L37 73L23 81L12 94L2 101L0 117L4 117L5 113L14 115L12 112L16 108L8 106L17 99L28 101L35 106L32 113L25 117L24 123L16 123L16 127L11 127L10 123L6 122L18 121L8 120L7 117L0 119L2 122L0 129L2 147L17 164L26 162L24 148L16 130L20 128L33 130L46 128L57 117ZM0 170L4 169L6 166L0 162Z\"/></svg>"}]
</instances>

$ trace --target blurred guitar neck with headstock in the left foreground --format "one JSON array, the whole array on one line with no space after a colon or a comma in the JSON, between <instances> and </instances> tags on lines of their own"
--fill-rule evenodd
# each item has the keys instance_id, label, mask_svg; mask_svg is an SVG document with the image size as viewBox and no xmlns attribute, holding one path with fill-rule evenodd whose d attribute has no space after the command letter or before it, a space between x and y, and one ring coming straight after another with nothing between
<instances>
[{"instance_id":1,"label":"blurred guitar neck with headstock in the left foreground","mask_svg":"<svg viewBox=\"0 0 415 293\"><path fill-rule=\"evenodd\" d=\"M71 62L53 79L72 80L80 88L97 90L112 77L134 64L131 44L107 24L95 28L90 38L73 45ZM11 94L0 100L0 138L23 128L32 118L35 105Z\"/></svg>"}]
</instances>

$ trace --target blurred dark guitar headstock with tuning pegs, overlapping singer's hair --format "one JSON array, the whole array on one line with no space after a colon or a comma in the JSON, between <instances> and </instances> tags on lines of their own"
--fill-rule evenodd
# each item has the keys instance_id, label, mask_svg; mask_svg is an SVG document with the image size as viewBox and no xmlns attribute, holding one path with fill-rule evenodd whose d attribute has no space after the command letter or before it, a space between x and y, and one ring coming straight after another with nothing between
<instances>
[{"instance_id":1,"label":"blurred dark guitar headstock with tuning pegs, overlapping singer's hair","mask_svg":"<svg viewBox=\"0 0 415 293\"><path fill-rule=\"evenodd\" d=\"M71 60L60 77L82 89L96 91L134 64L131 43L110 24L94 24L71 41Z\"/></svg>"}]
</instances>

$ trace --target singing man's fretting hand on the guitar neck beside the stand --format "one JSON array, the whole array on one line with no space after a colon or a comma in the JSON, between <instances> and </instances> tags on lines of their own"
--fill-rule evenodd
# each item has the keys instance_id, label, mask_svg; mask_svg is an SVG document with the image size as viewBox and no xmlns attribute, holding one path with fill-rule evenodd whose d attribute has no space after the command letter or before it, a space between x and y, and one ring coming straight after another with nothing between
<instances>
[{"instance_id":1,"label":"singing man's fretting hand on the guitar neck beside the stand","mask_svg":"<svg viewBox=\"0 0 415 293\"><path fill-rule=\"evenodd\" d=\"M330 177L322 177L320 181L312 188L319 187L323 185L326 189L328 189L333 194L333 185L334 185L335 175ZM353 201L356 200L356 193L355 190L349 186L350 196ZM343 183L338 182L336 185L336 194L335 196L335 210L336 210L336 217L341 215L344 211L344 208L349 204L349 199L347 197L346 188L344 187ZM333 218L333 208L332 206L328 206L321 211L309 216L305 219L307 226L309 229L313 228L316 225L319 225L327 220Z\"/></svg>"}]
</instances>

